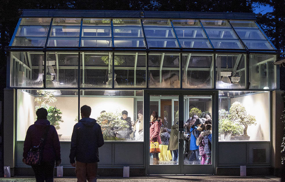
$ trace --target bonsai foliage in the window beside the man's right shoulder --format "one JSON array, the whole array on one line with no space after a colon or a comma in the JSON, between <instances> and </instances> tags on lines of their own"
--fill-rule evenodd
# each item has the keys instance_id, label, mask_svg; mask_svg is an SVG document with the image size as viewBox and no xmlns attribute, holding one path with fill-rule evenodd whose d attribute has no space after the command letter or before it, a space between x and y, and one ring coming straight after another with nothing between
<instances>
[{"instance_id":1,"label":"bonsai foliage in the window beside the man's right shoulder","mask_svg":"<svg viewBox=\"0 0 285 182\"><path fill-rule=\"evenodd\" d=\"M121 127L121 128L128 128L129 126L126 124L126 121L121 120L122 113L119 111L115 112L103 112L98 116L97 123L102 128L113 128L113 127Z\"/></svg>"}]
</instances>

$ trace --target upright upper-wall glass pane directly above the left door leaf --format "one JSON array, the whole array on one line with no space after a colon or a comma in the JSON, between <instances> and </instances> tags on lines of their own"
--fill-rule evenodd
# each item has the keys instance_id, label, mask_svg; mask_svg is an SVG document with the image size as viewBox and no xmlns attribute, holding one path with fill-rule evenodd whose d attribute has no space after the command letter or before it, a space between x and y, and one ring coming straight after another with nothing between
<instances>
[{"instance_id":1,"label":"upright upper-wall glass pane directly above the left door leaf","mask_svg":"<svg viewBox=\"0 0 285 182\"><path fill-rule=\"evenodd\" d=\"M149 53L149 88L180 88L180 54Z\"/></svg>"}]
</instances>

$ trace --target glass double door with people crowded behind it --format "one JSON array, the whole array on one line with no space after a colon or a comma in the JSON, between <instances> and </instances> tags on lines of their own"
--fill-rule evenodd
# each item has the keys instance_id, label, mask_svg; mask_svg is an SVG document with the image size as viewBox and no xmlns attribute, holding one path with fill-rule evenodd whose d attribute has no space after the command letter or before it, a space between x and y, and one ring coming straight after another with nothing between
<instances>
[{"instance_id":1,"label":"glass double door with people crowded behind it","mask_svg":"<svg viewBox=\"0 0 285 182\"><path fill-rule=\"evenodd\" d=\"M145 91L144 98L146 121L150 121L148 174L214 174L215 92L151 90ZM158 116L159 125L151 115Z\"/></svg>"}]
</instances>

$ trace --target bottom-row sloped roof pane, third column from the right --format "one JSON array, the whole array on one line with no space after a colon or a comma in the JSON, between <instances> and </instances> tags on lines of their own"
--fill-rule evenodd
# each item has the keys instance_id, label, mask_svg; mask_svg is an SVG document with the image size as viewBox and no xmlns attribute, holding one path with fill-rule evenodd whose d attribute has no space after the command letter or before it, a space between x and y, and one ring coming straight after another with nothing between
<instances>
[{"instance_id":1,"label":"bottom-row sloped roof pane, third column from the right","mask_svg":"<svg viewBox=\"0 0 285 182\"><path fill-rule=\"evenodd\" d=\"M179 38L179 42L185 48L212 48L208 39L203 38Z\"/></svg>"}]
</instances>

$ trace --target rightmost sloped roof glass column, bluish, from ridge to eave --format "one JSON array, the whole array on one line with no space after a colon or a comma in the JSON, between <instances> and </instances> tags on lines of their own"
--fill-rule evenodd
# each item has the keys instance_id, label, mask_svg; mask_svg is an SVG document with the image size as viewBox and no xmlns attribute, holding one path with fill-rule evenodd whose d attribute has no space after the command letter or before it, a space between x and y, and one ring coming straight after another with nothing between
<instances>
[{"instance_id":1,"label":"rightmost sloped roof glass column, bluish, from ridge to eave","mask_svg":"<svg viewBox=\"0 0 285 182\"><path fill-rule=\"evenodd\" d=\"M231 20L230 23L248 49L274 49L254 21Z\"/></svg>"}]
</instances>

